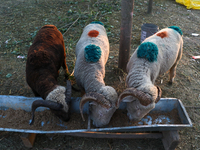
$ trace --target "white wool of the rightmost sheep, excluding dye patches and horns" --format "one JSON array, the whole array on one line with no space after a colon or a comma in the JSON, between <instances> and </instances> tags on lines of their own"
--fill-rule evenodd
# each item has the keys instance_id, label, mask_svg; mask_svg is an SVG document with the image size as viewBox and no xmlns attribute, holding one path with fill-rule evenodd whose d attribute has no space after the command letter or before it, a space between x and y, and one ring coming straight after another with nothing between
<instances>
[{"instance_id":1,"label":"white wool of the rightmost sheep, excluding dye patches and horns","mask_svg":"<svg viewBox=\"0 0 200 150\"><path fill-rule=\"evenodd\" d=\"M167 36L161 38L157 33L166 32ZM126 84L147 93L152 98L152 103L143 106L139 100L132 96L123 99L127 102L129 119L140 120L155 107L155 100L158 95L157 87L154 85L156 78L174 67L170 73L170 82L174 81L176 66L182 56L182 36L171 28L165 28L156 34L148 37L143 42L152 42L158 47L157 61L149 62L145 58L137 57L137 49L132 54L127 64Z\"/></svg>"}]
</instances>

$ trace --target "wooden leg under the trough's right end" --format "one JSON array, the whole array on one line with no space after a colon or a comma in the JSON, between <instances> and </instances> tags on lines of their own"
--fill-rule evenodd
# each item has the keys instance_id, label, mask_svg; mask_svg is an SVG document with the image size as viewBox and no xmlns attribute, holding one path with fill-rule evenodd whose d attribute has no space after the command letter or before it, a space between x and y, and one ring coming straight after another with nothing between
<instances>
[{"instance_id":1,"label":"wooden leg under the trough's right end","mask_svg":"<svg viewBox=\"0 0 200 150\"><path fill-rule=\"evenodd\" d=\"M163 131L163 146L165 150L175 150L180 142L178 131Z\"/></svg>"}]
</instances>

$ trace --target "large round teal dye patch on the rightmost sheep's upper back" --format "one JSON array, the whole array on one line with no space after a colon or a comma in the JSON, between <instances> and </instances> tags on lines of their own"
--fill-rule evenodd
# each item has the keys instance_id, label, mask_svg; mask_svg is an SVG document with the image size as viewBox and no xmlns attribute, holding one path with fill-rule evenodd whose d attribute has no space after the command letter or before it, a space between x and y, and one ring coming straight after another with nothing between
<instances>
[{"instance_id":1,"label":"large round teal dye patch on the rightmost sheep's upper back","mask_svg":"<svg viewBox=\"0 0 200 150\"><path fill-rule=\"evenodd\" d=\"M138 58L146 58L149 62L157 61L158 47L152 42L142 43L137 50Z\"/></svg>"}]
</instances>

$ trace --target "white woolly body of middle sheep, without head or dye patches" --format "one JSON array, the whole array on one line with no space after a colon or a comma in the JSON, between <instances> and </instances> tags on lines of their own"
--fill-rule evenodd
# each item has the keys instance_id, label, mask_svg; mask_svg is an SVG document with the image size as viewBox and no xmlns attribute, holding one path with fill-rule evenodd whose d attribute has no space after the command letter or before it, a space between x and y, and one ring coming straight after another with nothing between
<instances>
[{"instance_id":1,"label":"white woolly body of middle sheep, without head or dye patches","mask_svg":"<svg viewBox=\"0 0 200 150\"><path fill-rule=\"evenodd\" d=\"M99 31L97 37L89 37L91 30ZM96 63L85 61L84 49L87 45L94 44L101 48L101 57ZM76 64L74 76L78 86L84 88L85 92L93 92L104 86L105 64L109 56L109 41L105 28L100 24L87 25L76 45Z\"/></svg>"}]
</instances>

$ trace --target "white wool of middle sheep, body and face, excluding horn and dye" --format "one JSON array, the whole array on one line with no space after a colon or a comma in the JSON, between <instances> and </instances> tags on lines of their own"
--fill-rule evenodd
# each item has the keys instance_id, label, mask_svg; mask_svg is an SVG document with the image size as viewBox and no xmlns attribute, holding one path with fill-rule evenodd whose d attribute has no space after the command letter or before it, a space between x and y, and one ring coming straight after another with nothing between
<instances>
[{"instance_id":1,"label":"white wool of middle sheep, body and face, excluding horn and dye","mask_svg":"<svg viewBox=\"0 0 200 150\"><path fill-rule=\"evenodd\" d=\"M97 30L99 35L97 37L88 36L88 32ZM95 63L85 61L84 49L87 45L96 45L101 48L101 57ZM109 123L110 118L116 110L115 103L118 95L114 88L105 86L105 65L109 56L109 41L104 26L100 24L87 25L76 45L76 63L74 69L74 76L77 85L85 91L97 92L105 96L112 104L112 107L106 109L96 102L90 103L91 119L96 127L101 127Z\"/></svg>"}]
</instances>

